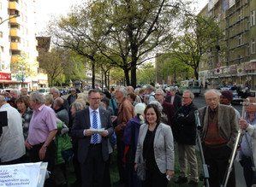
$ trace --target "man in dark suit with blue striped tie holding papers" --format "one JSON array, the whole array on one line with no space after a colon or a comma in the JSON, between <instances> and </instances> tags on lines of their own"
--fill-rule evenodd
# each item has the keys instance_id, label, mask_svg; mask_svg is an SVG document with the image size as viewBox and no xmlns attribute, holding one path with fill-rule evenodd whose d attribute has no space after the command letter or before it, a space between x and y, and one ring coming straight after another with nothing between
<instances>
[{"instance_id":1,"label":"man in dark suit with blue striped tie holding papers","mask_svg":"<svg viewBox=\"0 0 256 187\"><path fill-rule=\"evenodd\" d=\"M90 90L90 107L75 114L72 136L78 139L78 161L80 162L82 186L102 186L104 164L109 157L108 138L113 133L110 112L98 108L100 93ZM104 131L94 133L91 129Z\"/></svg>"}]
</instances>

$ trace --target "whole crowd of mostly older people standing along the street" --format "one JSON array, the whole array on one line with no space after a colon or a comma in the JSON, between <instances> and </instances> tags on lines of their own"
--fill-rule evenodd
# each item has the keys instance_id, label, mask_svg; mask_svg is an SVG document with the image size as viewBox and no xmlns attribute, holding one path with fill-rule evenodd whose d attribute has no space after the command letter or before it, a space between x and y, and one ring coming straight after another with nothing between
<instances>
[{"instance_id":1,"label":"whole crowd of mostly older people standing along the street","mask_svg":"<svg viewBox=\"0 0 256 187\"><path fill-rule=\"evenodd\" d=\"M192 91L179 96L173 86L156 89L154 85L135 90L132 86L92 89L88 94L77 94L72 88L67 99L56 87L46 96L39 92L28 95L25 88L11 90L0 95L0 112L7 111L8 120L0 137L0 165L48 162L51 174L45 186L68 186L68 162L74 166L72 186L164 187L169 180L198 186L198 110L210 186L223 184L239 128L247 130L249 141L247 147L244 136L238 149L246 183L248 187L256 184L249 153L255 160L255 98L249 97L245 120L230 104L231 91L205 91L207 105L203 108L197 108L193 99ZM110 181L114 150L118 181ZM140 166L145 169L144 179L138 176ZM234 187L234 167L228 179L227 186Z\"/></svg>"}]
</instances>

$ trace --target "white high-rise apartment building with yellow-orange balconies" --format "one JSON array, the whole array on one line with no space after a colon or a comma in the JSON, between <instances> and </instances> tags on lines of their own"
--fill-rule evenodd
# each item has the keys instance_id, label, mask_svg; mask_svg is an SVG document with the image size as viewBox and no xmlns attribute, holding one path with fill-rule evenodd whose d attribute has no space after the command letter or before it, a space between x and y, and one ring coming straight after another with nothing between
<instances>
[{"instance_id":1,"label":"white high-rise apartment building with yellow-orange balconies","mask_svg":"<svg viewBox=\"0 0 256 187\"><path fill-rule=\"evenodd\" d=\"M0 2L0 88L32 91L48 85L39 72L34 17L35 0Z\"/></svg>"}]
</instances>

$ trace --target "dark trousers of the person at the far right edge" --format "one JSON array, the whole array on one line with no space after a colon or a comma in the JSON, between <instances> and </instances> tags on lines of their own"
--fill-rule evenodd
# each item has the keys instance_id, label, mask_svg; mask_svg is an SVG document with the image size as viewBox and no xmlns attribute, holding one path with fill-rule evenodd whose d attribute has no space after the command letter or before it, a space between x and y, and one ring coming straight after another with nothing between
<instances>
[{"instance_id":1,"label":"dark trousers of the person at the far right edge","mask_svg":"<svg viewBox=\"0 0 256 187\"><path fill-rule=\"evenodd\" d=\"M243 164L243 175L247 183L247 187L251 187L253 184L256 184L256 176L253 172L253 165L250 157L243 156L242 158Z\"/></svg>"}]
</instances>

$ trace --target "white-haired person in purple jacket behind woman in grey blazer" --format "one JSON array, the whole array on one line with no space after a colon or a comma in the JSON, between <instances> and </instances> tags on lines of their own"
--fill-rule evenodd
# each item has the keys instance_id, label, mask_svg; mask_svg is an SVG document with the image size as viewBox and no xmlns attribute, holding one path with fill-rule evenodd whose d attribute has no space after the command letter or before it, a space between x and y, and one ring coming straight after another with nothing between
<instances>
[{"instance_id":1,"label":"white-haired person in purple jacket behind woman in grey blazer","mask_svg":"<svg viewBox=\"0 0 256 187\"><path fill-rule=\"evenodd\" d=\"M128 121L123 135L123 143L125 144L125 151L123 162L126 164L128 172L128 186L140 187L143 186L141 181L137 179L134 171L134 159L137 149L140 126L144 124L144 110L145 103L137 103L134 108L135 117Z\"/></svg>"}]
</instances>

